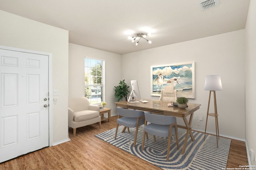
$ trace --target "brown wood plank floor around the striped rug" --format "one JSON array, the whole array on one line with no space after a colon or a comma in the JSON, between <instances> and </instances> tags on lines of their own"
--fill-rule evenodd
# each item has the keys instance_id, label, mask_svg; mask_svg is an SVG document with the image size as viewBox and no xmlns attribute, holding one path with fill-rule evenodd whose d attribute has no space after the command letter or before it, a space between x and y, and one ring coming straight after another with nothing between
<instances>
[{"instance_id":1,"label":"brown wood plank floor around the striped rug","mask_svg":"<svg viewBox=\"0 0 256 170\"><path fill-rule=\"evenodd\" d=\"M94 137L116 127L117 116L111 122L81 127L76 137L69 129L71 141L47 147L0 164L0 170L160 170L160 168ZM2 153L1 153L2 154ZM227 168L248 165L246 146L232 139Z\"/></svg>"}]
</instances>

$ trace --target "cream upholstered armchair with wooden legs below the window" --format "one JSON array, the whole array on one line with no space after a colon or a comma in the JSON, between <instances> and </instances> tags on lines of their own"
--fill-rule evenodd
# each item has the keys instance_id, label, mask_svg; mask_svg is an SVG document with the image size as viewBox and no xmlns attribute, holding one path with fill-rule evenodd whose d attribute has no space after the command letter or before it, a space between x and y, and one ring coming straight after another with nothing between
<instances>
[{"instance_id":1,"label":"cream upholstered armchair with wooden legs below the window","mask_svg":"<svg viewBox=\"0 0 256 170\"><path fill-rule=\"evenodd\" d=\"M68 100L68 126L73 128L76 136L76 128L99 123L101 126L100 107L90 104L85 97L70 98Z\"/></svg>"}]
</instances>

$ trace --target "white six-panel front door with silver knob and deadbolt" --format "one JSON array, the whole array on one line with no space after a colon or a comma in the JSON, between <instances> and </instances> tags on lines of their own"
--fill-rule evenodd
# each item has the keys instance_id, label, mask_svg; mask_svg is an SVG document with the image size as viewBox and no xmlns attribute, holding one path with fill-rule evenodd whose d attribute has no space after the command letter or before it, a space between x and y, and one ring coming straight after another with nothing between
<instances>
[{"instance_id":1,"label":"white six-panel front door with silver knob and deadbolt","mask_svg":"<svg viewBox=\"0 0 256 170\"><path fill-rule=\"evenodd\" d=\"M48 56L0 49L0 162L49 146Z\"/></svg>"}]
</instances>

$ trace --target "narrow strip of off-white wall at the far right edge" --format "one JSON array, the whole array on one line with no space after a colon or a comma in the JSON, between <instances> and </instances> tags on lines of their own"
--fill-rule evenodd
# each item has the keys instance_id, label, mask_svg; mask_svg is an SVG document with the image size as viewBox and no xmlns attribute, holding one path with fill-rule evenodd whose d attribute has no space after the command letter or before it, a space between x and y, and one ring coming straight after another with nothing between
<instances>
[{"instance_id":1,"label":"narrow strip of off-white wall at the far right edge","mask_svg":"<svg viewBox=\"0 0 256 170\"><path fill-rule=\"evenodd\" d=\"M246 141L248 149L256 152L256 0L250 1L250 8L246 22L246 56L245 56L245 82L246 82ZM255 154L256 156L256 154ZM255 165L255 162L252 162Z\"/></svg>"}]
</instances>

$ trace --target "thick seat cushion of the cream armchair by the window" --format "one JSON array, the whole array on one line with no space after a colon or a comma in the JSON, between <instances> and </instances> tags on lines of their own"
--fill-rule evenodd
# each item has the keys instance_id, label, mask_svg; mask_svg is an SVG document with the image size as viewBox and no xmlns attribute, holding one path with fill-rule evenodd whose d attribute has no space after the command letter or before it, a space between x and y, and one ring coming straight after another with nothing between
<instances>
[{"instance_id":1,"label":"thick seat cushion of the cream armchair by the window","mask_svg":"<svg viewBox=\"0 0 256 170\"><path fill-rule=\"evenodd\" d=\"M77 111L77 112L74 112L74 121L85 121L85 120L94 119L99 116L100 114L98 111L93 111L93 110Z\"/></svg>"}]
</instances>

